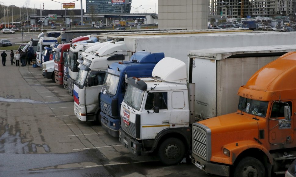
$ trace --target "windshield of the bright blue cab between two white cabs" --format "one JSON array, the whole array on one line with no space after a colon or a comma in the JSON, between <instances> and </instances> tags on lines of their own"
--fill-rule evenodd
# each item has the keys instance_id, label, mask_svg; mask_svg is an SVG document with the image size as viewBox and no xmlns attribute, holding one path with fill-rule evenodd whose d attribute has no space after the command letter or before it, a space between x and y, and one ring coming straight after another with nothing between
<instances>
[{"instance_id":1,"label":"windshield of the bright blue cab between two white cabs","mask_svg":"<svg viewBox=\"0 0 296 177\"><path fill-rule=\"evenodd\" d=\"M107 73L103 82L103 93L109 93L111 95L115 95L117 91L117 85L119 82L119 77L112 75L110 73Z\"/></svg>"}]
</instances>

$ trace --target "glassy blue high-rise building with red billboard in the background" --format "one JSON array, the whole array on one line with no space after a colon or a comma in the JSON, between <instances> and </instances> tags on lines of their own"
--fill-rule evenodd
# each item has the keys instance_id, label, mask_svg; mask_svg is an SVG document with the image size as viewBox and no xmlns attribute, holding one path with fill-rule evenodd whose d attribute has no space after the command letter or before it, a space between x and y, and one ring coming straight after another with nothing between
<instances>
[{"instance_id":1,"label":"glassy blue high-rise building with red billboard in the background","mask_svg":"<svg viewBox=\"0 0 296 177\"><path fill-rule=\"evenodd\" d=\"M111 2L111 3L108 3ZM123 2L128 4L132 0L86 0L86 13L130 13L131 7L124 4L112 4L113 2Z\"/></svg>"}]
</instances>

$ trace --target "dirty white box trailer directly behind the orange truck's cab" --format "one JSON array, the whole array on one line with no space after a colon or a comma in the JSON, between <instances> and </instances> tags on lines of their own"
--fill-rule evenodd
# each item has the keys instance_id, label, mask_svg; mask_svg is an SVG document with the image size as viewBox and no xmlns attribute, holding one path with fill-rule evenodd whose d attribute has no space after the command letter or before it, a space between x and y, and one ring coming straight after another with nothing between
<instances>
[{"instance_id":1,"label":"dirty white box trailer directly behind the orange truck's cab","mask_svg":"<svg viewBox=\"0 0 296 177\"><path fill-rule=\"evenodd\" d=\"M250 46L191 50L195 115L200 119L237 110L237 90L261 67L296 50L296 45Z\"/></svg>"}]
</instances>

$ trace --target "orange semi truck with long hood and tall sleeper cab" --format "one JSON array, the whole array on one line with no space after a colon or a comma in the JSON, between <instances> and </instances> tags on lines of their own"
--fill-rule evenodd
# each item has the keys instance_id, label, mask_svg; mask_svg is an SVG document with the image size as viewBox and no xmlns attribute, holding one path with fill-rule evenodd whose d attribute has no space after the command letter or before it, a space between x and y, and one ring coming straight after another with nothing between
<instances>
[{"instance_id":1,"label":"orange semi truck with long hood and tall sleeper cab","mask_svg":"<svg viewBox=\"0 0 296 177\"><path fill-rule=\"evenodd\" d=\"M296 158L296 52L258 70L239 88L237 111L192 125L191 161L208 174L284 174Z\"/></svg>"}]
</instances>

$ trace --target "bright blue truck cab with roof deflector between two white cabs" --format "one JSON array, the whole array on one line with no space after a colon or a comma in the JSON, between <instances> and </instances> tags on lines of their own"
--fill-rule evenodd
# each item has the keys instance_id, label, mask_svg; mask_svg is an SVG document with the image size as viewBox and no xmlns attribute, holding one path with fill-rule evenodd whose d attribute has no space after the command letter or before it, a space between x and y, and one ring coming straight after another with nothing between
<instances>
[{"instance_id":1,"label":"bright blue truck cab with roof deflector between two white cabs","mask_svg":"<svg viewBox=\"0 0 296 177\"><path fill-rule=\"evenodd\" d=\"M120 104L125 96L125 79L151 77L154 66L164 58L164 53L136 52L130 61L110 65L100 93L102 128L113 137L119 137Z\"/></svg>"}]
</instances>

